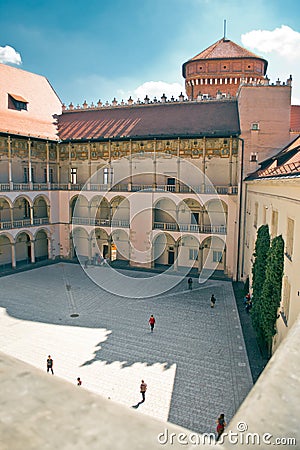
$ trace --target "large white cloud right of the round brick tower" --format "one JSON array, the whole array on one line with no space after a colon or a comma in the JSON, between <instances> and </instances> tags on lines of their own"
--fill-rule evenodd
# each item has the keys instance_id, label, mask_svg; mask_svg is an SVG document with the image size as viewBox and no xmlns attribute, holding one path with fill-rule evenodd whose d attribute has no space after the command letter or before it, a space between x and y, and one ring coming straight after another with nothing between
<instances>
[{"instance_id":1,"label":"large white cloud right of the round brick tower","mask_svg":"<svg viewBox=\"0 0 300 450\"><path fill-rule=\"evenodd\" d=\"M279 55L295 59L300 57L300 33L287 25L275 30L253 30L242 34L243 45L264 53L275 52Z\"/></svg>"}]
</instances>

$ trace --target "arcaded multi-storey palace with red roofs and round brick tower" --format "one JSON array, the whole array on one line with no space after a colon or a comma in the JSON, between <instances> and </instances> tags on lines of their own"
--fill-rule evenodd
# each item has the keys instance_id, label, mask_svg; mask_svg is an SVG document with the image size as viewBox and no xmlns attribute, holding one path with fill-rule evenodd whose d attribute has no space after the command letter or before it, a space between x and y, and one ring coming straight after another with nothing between
<instances>
[{"instance_id":1,"label":"arcaded multi-storey palace with red roofs and round brick tower","mask_svg":"<svg viewBox=\"0 0 300 450\"><path fill-rule=\"evenodd\" d=\"M267 61L223 38L183 65L178 99L65 106L45 77L0 64L1 270L105 259L245 281L255 218L248 202L260 210L279 183L247 177L296 146L300 128L292 78L271 83L266 71ZM279 217L297 195L295 187L274 206ZM297 218L286 214L291 234Z\"/></svg>"}]
</instances>

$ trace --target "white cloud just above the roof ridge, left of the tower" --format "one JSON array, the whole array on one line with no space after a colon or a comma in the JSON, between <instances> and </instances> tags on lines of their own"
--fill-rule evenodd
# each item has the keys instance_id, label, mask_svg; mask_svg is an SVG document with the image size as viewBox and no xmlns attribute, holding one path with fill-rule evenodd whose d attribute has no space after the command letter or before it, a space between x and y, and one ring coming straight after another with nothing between
<instances>
[{"instance_id":1,"label":"white cloud just above the roof ridge, left of the tower","mask_svg":"<svg viewBox=\"0 0 300 450\"><path fill-rule=\"evenodd\" d=\"M178 98L180 93L185 94L184 86L180 83L166 83L164 81L146 81L145 83L138 86L133 90L131 96L136 100L144 100L146 95L152 100L154 97L160 101L163 94L167 96L168 99L172 97Z\"/></svg>"}]
</instances>

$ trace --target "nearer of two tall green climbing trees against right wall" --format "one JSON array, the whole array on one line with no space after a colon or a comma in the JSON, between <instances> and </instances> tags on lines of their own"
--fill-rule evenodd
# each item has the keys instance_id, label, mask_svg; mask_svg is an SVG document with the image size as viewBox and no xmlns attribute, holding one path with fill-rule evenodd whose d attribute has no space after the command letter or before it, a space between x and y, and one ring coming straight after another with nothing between
<instances>
[{"instance_id":1,"label":"nearer of two tall green climbing trees against right wall","mask_svg":"<svg viewBox=\"0 0 300 450\"><path fill-rule=\"evenodd\" d=\"M284 241L280 235L272 240L267 258L265 282L260 296L260 328L269 355L272 349L272 338L276 333L275 324L281 301L283 267Z\"/></svg>"}]
</instances>

